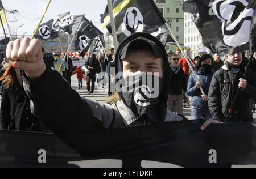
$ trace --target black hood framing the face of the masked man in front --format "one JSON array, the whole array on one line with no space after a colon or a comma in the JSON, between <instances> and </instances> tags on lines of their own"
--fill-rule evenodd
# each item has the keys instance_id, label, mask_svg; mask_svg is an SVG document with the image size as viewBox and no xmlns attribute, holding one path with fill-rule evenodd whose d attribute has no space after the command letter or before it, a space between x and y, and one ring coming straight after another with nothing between
<instances>
[{"instance_id":1,"label":"black hood framing the face of the masked man in front","mask_svg":"<svg viewBox=\"0 0 256 179\"><path fill-rule=\"evenodd\" d=\"M119 80L123 79L122 59L126 57L126 52L127 50L129 51L130 46L136 43L146 44L146 46L150 48L150 51L155 55L156 58L163 59L163 78L161 79L162 86L160 87L161 90L160 90L160 94L158 95L158 100L157 102L154 102L154 107L151 108L152 110L155 110L154 112L155 119L151 118L150 120L151 122L163 122L167 114L167 100L168 100L168 92L169 92L170 81L171 81L171 67L168 61L166 50L162 42L160 42L154 36L148 33L143 33L143 32L133 33L133 35L123 40L117 49L115 60L114 60L115 75L117 74L121 75L119 76L119 78L117 77L118 79L115 79L115 82L118 83ZM124 95L122 91L121 92L118 91L118 95L119 97L121 97L123 103L129 108L131 108L131 105L129 105L130 101L127 101L126 99L127 96ZM135 114L137 113L136 111L137 109L131 108L131 110L133 110ZM150 116L150 115L147 115L147 116Z\"/></svg>"}]
</instances>

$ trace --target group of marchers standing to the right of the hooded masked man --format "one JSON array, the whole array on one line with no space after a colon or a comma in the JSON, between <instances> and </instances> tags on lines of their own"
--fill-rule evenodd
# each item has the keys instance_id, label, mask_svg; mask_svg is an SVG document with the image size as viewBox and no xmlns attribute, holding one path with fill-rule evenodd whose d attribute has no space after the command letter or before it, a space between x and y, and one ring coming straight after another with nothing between
<instances>
[{"instance_id":1,"label":"group of marchers standing to the right of the hooded masked man","mask_svg":"<svg viewBox=\"0 0 256 179\"><path fill-rule=\"evenodd\" d=\"M169 110L183 115L183 106L191 104L191 120L213 118L224 122L228 118L228 122L253 122L252 111L256 110L256 53L245 79L242 77L249 60L243 52L226 54L223 60L220 54L203 54L191 59L188 49L185 50L185 55L195 74L185 57L180 58L180 50L175 54L171 50L167 52L172 73ZM228 116L238 88L242 89L241 93Z\"/></svg>"}]
</instances>

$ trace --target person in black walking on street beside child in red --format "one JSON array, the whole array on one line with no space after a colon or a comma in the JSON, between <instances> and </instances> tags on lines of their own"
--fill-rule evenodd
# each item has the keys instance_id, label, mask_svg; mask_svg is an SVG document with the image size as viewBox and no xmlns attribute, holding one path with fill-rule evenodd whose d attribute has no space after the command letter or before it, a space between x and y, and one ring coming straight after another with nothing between
<instances>
[{"instance_id":1,"label":"person in black walking on street beside child in red","mask_svg":"<svg viewBox=\"0 0 256 179\"><path fill-rule=\"evenodd\" d=\"M98 60L96 59L96 54L92 54L92 58L88 58L85 63L85 67L90 70L90 73L86 78L88 95L93 95L96 82L96 73L100 67ZM90 86L91 82L92 86Z\"/></svg>"}]
</instances>

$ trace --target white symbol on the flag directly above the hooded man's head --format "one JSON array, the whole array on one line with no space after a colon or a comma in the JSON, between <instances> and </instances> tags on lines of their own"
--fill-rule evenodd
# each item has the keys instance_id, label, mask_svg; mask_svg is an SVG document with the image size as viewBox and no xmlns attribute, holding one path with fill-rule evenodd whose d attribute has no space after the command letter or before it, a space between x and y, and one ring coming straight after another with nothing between
<instances>
[{"instance_id":1,"label":"white symbol on the flag directly above the hooded man's head","mask_svg":"<svg viewBox=\"0 0 256 179\"><path fill-rule=\"evenodd\" d=\"M126 36L134 32L142 32L144 27L143 16L137 7L127 8L122 23L122 31Z\"/></svg>"}]
</instances>

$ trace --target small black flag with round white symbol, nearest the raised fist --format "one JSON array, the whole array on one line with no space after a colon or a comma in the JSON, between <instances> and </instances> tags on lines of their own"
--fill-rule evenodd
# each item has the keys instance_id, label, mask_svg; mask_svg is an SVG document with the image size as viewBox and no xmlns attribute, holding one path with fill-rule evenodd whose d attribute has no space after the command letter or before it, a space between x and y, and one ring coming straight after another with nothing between
<instances>
[{"instance_id":1,"label":"small black flag with round white symbol, nearest the raised fist","mask_svg":"<svg viewBox=\"0 0 256 179\"><path fill-rule=\"evenodd\" d=\"M42 40L51 40L59 37L58 32L52 29L53 19L40 25L35 37Z\"/></svg>"}]
</instances>

